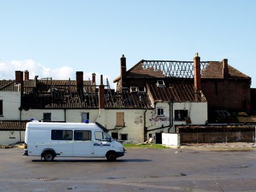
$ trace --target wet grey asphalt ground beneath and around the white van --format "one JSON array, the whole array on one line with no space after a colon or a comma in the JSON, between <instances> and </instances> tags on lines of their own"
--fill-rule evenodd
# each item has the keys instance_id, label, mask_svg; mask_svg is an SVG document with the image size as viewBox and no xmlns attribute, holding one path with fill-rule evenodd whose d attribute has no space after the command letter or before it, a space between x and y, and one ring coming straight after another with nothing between
<instances>
[{"instance_id":1,"label":"wet grey asphalt ground beneath and around the white van","mask_svg":"<svg viewBox=\"0 0 256 192\"><path fill-rule=\"evenodd\" d=\"M256 191L256 151L127 148L104 158L22 156L0 149L0 191Z\"/></svg>"}]
</instances>

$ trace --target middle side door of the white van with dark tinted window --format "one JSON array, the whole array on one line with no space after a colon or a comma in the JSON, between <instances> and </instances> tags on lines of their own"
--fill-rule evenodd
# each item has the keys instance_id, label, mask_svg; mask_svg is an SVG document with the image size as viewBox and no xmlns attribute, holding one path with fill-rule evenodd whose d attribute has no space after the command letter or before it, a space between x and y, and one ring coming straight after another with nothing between
<instances>
[{"instance_id":1,"label":"middle side door of the white van with dark tinted window","mask_svg":"<svg viewBox=\"0 0 256 192\"><path fill-rule=\"evenodd\" d=\"M73 156L93 157L92 154L92 131L75 130L73 143Z\"/></svg>"}]
</instances>

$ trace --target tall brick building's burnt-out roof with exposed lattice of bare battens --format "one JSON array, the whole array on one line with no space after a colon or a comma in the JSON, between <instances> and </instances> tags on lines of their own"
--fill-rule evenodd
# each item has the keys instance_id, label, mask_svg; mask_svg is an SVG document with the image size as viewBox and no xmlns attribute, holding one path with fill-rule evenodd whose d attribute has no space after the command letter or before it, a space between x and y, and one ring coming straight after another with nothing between
<instances>
[{"instance_id":1,"label":"tall brick building's burnt-out roof with exposed lattice of bare battens","mask_svg":"<svg viewBox=\"0 0 256 192\"><path fill-rule=\"evenodd\" d=\"M222 62L201 61L201 78L223 78ZM193 78L193 61L148 61L141 60L126 72L127 78ZM230 79L251 79L234 67L228 65L228 77ZM121 76L114 79L118 82Z\"/></svg>"}]
</instances>

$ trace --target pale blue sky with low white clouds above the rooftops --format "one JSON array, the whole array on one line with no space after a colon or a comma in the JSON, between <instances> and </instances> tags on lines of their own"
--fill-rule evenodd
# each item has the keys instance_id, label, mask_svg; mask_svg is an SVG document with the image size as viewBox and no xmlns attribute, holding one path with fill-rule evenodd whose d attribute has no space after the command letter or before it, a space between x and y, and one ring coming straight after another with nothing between
<instances>
[{"instance_id":1,"label":"pale blue sky with low white clouds above the rooftops","mask_svg":"<svg viewBox=\"0 0 256 192\"><path fill-rule=\"evenodd\" d=\"M30 78L113 82L120 58L127 69L141 59L222 61L252 77L256 54L256 1L14 1L0 0L0 79L15 70ZM114 88L113 84L111 84Z\"/></svg>"}]
</instances>

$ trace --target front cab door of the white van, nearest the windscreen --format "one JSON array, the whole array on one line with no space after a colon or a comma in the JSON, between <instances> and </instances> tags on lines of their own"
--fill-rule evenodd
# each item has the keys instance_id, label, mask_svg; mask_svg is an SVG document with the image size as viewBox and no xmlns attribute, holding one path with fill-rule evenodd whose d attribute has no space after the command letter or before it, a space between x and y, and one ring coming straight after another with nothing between
<instances>
[{"instance_id":1,"label":"front cab door of the white van, nearest the windscreen","mask_svg":"<svg viewBox=\"0 0 256 192\"><path fill-rule=\"evenodd\" d=\"M94 157L104 157L110 150L110 138L102 131L95 131L94 138Z\"/></svg>"}]
</instances>

